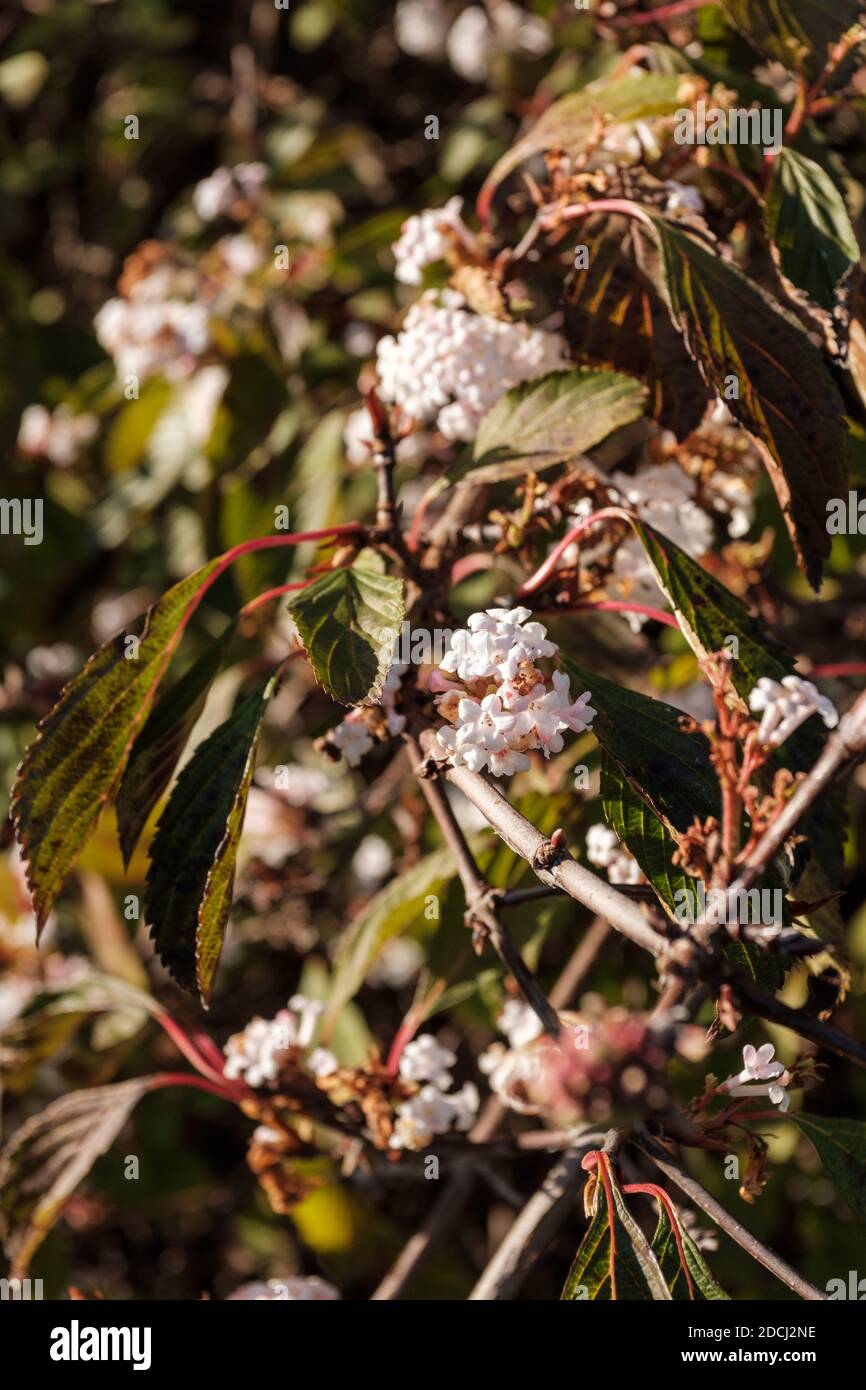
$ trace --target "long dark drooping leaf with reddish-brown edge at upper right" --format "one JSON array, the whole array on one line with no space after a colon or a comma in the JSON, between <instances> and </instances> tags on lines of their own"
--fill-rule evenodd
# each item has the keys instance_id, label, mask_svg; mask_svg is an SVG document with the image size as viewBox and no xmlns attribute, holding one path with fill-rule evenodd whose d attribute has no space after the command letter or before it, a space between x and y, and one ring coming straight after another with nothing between
<instances>
[{"instance_id":1,"label":"long dark drooping leaf with reddish-brown edge at upper right","mask_svg":"<svg viewBox=\"0 0 866 1390\"><path fill-rule=\"evenodd\" d=\"M798 564L813 588L830 555L827 502L848 485L842 402L795 314L681 228L652 218L674 324L760 448ZM738 398L726 385L737 378Z\"/></svg>"}]
</instances>

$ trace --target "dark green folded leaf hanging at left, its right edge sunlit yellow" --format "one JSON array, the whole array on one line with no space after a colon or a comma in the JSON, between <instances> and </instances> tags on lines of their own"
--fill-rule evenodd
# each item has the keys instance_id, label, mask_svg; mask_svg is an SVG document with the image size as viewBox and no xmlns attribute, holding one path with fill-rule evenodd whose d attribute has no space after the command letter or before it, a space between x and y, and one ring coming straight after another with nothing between
<instances>
[{"instance_id":1,"label":"dark green folded leaf hanging at left, its right edge sunlit yellow","mask_svg":"<svg viewBox=\"0 0 866 1390\"><path fill-rule=\"evenodd\" d=\"M274 674L196 748L150 845L145 917L163 965L207 1005L232 902L256 741Z\"/></svg>"}]
</instances>

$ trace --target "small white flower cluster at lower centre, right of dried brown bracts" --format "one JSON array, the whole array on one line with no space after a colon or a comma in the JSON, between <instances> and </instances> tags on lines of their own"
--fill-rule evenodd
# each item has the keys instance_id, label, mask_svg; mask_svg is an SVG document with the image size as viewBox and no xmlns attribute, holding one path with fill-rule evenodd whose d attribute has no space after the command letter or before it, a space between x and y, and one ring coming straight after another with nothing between
<instances>
[{"instance_id":1,"label":"small white flower cluster at lower centre, right of dried brown bracts","mask_svg":"<svg viewBox=\"0 0 866 1390\"><path fill-rule=\"evenodd\" d=\"M466 1081L459 1091L445 1094L453 1081L449 1069L456 1061L455 1054L442 1047L432 1033L423 1033L406 1044L400 1055L402 1079L427 1084L398 1105L391 1148L421 1150L434 1134L473 1127L478 1113L478 1087Z\"/></svg>"}]
</instances>

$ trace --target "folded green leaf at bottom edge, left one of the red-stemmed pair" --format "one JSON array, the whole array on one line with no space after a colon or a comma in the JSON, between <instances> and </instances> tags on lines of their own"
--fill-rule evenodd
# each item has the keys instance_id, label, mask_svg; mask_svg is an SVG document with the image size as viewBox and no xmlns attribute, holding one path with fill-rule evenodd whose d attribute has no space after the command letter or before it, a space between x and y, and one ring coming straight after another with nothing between
<instances>
[{"instance_id":1,"label":"folded green leaf at bottom edge, left one of the red-stemmed pair","mask_svg":"<svg viewBox=\"0 0 866 1390\"><path fill-rule=\"evenodd\" d=\"M569 1270L563 1300L566 1302L607 1301L617 1302L655 1300L670 1302L670 1290L659 1269L644 1232L628 1211L613 1175L613 1280L610 1269L610 1213L603 1186L599 1180L595 1190L595 1207L574 1264ZM616 1295L613 1286L616 1284Z\"/></svg>"}]
</instances>

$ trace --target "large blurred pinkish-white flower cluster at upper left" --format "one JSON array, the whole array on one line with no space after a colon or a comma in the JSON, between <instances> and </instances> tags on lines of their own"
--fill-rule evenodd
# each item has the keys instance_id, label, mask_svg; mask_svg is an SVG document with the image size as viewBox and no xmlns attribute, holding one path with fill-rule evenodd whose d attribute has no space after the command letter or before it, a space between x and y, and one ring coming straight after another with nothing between
<instances>
[{"instance_id":1,"label":"large blurred pinkish-white flower cluster at upper left","mask_svg":"<svg viewBox=\"0 0 866 1390\"><path fill-rule=\"evenodd\" d=\"M99 310L96 336L120 377L146 381L164 373L177 381L195 371L210 346L210 314L204 304L177 295L175 271L161 263L136 281L125 299L110 299Z\"/></svg>"}]
</instances>

